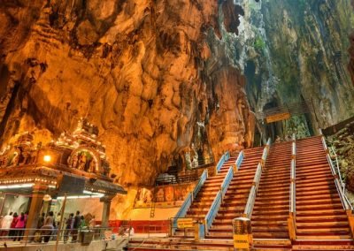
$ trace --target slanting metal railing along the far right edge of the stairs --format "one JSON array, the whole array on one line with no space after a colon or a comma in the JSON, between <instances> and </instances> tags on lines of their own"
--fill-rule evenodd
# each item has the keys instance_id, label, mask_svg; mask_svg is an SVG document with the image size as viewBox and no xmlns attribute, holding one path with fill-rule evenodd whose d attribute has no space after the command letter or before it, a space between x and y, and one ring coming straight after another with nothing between
<instances>
[{"instance_id":1,"label":"slanting metal railing along the far right edge of the stairs","mask_svg":"<svg viewBox=\"0 0 354 251\"><path fill-rule=\"evenodd\" d=\"M325 151L327 153L327 161L328 161L328 164L329 164L330 169L332 171L332 175L335 178L335 186L338 191L339 197L341 198L343 209L345 209L347 211L347 213L350 212L350 214L351 214L353 207L351 206L347 195L344 193L341 181L339 180L339 177L341 176L341 172L339 171L339 167L338 167L338 172L335 170L335 164L333 164L332 158L329 155L329 149L327 148L325 136L322 134L321 130L319 130L319 133L322 136L321 140L322 140L323 148L325 149ZM354 222L353 222L353 224L354 224ZM353 226L353 230L354 230L354 226Z\"/></svg>"}]
</instances>

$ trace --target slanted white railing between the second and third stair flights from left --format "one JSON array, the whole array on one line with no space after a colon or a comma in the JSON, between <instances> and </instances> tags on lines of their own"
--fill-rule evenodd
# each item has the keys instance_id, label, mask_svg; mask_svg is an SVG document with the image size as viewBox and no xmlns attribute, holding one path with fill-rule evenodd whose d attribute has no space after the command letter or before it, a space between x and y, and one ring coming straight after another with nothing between
<instances>
[{"instance_id":1,"label":"slanted white railing between the second and third stair flights from left","mask_svg":"<svg viewBox=\"0 0 354 251\"><path fill-rule=\"evenodd\" d=\"M266 158L269 154L270 145L271 145L271 139L269 138L268 141L266 141L265 148L263 149L261 161L257 166L257 170L256 170L256 173L255 173L255 176L253 179L253 185L250 188L250 194L247 199L246 207L243 212L243 217L250 218L252 216L254 203L256 202L256 197L257 197L257 193L258 193L259 181L262 176L263 168L265 167L265 164L266 164Z\"/></svg>"}]
</instances>

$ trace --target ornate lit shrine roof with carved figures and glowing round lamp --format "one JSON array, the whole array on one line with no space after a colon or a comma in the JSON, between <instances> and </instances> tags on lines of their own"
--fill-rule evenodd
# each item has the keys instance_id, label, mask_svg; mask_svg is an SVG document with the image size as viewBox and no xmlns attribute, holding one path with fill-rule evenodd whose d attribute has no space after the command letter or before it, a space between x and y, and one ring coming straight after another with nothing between
<instances>
[{"instance_id":1,"label":"ornate lit shrine roof with carved figures and glowing round lamp","mask_svg":"<svg viewBox=\"0 0 354 251\"><path fill-rule=\"evenodd\" d=\"M5 146L0 152L0 190L18 189L21 194L30 194L33 186L42 185L57 195L127 194L113 182L114 175L110 177L105 148L97 136L98 128L82 118L73 133L61 133L57 141L46 146L35 146L32 133L21 134L12 146ZM67 186L68 180L73 186L80 185L82 191Z\"/></svg>"}]
</instances>

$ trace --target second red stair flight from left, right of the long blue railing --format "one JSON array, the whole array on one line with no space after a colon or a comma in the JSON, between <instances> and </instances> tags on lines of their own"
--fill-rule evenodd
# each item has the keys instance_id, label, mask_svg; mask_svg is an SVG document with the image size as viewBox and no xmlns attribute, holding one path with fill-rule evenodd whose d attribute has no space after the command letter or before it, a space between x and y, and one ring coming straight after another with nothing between
<instances>
[{"instance_id":1,"label":"second red stair flight from left, right of the long blue railing","mask_svg":"<svg viewBox=\"0 0 354 251\"><path fill-rule=\"evenodd\" d=\"M219 208L219 212L209 230L207 239L232 239L232 220L243 214L250 187L254 178L257 165L261 160L264 148L250 148L243 150L244 158L228 186L227 193Z\"/></svg>"}]
</instances>

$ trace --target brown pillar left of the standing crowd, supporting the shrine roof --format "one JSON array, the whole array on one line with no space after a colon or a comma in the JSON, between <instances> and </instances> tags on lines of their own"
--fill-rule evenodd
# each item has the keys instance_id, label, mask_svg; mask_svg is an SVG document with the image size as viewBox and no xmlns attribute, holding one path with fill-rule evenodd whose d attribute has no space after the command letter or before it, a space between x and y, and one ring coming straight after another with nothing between
<instances>
[{"instance_id":1,"label":"brown pillar left of the standing crowd, supporting the shrine roof","mask_svg":"<svg viewBox=\"0 0 354 251\"><path fill-rule=\"evenodd\" d=\"M25 231L24 240L32 240L32 237L27 237L28 235L35 235L34 228L37 228L38 218L40 216L40 211L42 209L43 197L48 190L48 186L42 184L35 184L32 192L32 200L29 206L29 212L27 217L26 228L30 230Z\"/></svg>"}]
</instances>

